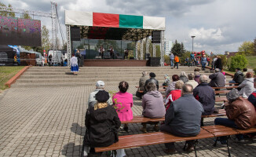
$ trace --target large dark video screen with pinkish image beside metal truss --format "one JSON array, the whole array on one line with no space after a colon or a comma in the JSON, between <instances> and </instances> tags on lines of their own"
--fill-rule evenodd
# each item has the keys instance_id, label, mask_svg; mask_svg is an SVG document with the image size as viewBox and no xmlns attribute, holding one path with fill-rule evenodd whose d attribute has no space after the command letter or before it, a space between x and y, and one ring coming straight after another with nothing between
<instances>
[{"instance_id":1,"label":"large dark video screen with pinkish image beside metal truss","mask_svg":"<svg viewBox=\"0 0 256 157\"><path fill-rule=\"evenodd\" d=\"M0 16L0 45L42 46L41 21Z\"/></svg>"}]
</instances>

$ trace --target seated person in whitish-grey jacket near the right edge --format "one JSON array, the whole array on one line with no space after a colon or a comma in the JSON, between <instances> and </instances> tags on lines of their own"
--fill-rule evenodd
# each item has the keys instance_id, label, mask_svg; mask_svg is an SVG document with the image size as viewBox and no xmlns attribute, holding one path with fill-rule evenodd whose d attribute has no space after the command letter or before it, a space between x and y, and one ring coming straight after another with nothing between
<instances>
[{"instance_id":1,"label":"seated person in whitish-grey jacket near the right edge","mask_svg":"<svg viewBox=\"0 0 256 157\"><path fill-rule=\"evenodd\" d=\"M238 86L240 88L239 95L248 98L254 92L254 73L247 72L247 78Z\"/></svg>"}]
</instances>

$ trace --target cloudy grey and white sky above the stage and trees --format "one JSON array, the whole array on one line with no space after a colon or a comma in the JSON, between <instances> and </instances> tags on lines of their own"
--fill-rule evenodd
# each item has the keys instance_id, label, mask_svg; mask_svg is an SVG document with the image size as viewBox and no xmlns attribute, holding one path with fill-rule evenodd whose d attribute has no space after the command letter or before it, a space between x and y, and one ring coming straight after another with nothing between
<instances>
[{"instance_id":1,"label":"cloudy grey and white sky above the stage and trees","mask_svg":"<svg viewBox=\"0 0 256 157\"><path fill-rule=\"evenodd\" d=\"M13 8L51 12L47 0L1 0ZM183 42L185 49L207 53L234 52L245 41L256 38L255 0L57 0L57 10L65 34L64 10L166 17L165 38ZM51 19L42 25L51 30ZM60 31L58 33L60 36ZM66 35L64 35L64 40Z\"/></svg>"}]
</instances>

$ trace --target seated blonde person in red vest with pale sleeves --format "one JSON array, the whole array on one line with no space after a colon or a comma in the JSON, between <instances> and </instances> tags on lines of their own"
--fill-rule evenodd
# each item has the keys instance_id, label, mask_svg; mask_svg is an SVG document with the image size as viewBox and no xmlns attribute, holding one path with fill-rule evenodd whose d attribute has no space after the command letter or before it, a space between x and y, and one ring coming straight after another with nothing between
<instances>
[{"instance_id":1,"label":"seated blonde person in red vest with pale sleeves","mask_svg":"<svg viewBox=\"0 0 256 157\"><path fill-rule=\"evenodd\" d=\"M184 82L181 80L178 80L175 83L175 89L170 91L169 96L166 98L166 110L170 107L170 104L181 97L181 88L184 85Z\"/></svg>"}]
</instances>

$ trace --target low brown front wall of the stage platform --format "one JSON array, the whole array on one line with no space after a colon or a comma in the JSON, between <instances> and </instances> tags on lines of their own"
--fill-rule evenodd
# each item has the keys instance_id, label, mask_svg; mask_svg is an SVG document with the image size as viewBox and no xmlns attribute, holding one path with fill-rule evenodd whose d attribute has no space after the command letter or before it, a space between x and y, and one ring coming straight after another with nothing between
<instances>
[{"instance_id":1,"label":"low brown front wall of the stage platform","mask_svg":"<svg viewBox=\"0 0 256 157\"><path fill-rule=\"evenodd\" d=\"M147 60L84 60L85 67L145 67Z\"/></svg>"}]
</instances>

